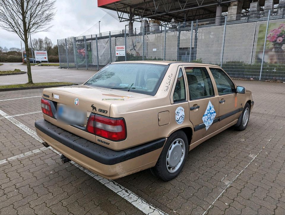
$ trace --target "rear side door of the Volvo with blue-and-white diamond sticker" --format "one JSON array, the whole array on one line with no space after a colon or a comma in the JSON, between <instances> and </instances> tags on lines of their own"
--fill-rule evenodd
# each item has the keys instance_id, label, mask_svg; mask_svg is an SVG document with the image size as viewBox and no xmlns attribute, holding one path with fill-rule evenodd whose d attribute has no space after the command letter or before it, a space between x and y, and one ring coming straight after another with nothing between
<instances>
[{"instance_id":1,"label":"rear side door of the Volvo with blue-and-white diamond sticker","mask_svg":"<svg viewBox=\"0 0 285 215\"><path fill-rule=\"evenodd\" d=\"M219 116L219 98L205 66L184 65L189 89L190 121L194 125L192 142L216 131Z\"/></svg>"}]
</instances>

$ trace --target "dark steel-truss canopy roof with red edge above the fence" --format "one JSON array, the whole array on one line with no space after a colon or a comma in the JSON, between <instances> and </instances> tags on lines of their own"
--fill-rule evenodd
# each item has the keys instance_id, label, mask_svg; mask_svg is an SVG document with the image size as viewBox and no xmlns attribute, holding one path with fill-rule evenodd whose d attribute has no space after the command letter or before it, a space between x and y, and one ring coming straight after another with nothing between
<instances>
[{"instance_id":1,"label":"dark steel-truss canopy roof with red edge above the fence","mask_svg":"<svg viewBox=\"0 0 285 215\"><path fill-rule=\"evenodd\" d=\"M217 6L227 12L231 2L242 4L243 12L248 12L251 0L98 0L98 7L115 10L123 21L142 21L143 18L170 22L214 18ZM279 0L273 0L278 4ZM271 3L272 4L272 3ZM264 6L265 0L259 0ZM261 8L262 9L262 8Z\"/></svg>"}]
</instances>

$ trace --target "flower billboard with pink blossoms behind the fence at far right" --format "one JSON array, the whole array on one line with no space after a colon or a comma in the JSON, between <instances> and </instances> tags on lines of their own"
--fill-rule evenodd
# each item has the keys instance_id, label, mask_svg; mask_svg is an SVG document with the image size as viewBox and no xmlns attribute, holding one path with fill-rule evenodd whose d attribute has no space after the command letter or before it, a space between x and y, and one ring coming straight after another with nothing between
<instances>
[{"instance_id":1,"label":"flower billboard with pink blossoms behind the fence at far right","mask_svg":"<svg viewBox=\"0 0 285 215\"><path fill-rule=\"evenodd\" d=\"M266 24L260 24L257 39L256 62L261 63L265 40ZM285 62L285 23L268 25L264 62L280 64Z\"/></svg>"}]
</instances>

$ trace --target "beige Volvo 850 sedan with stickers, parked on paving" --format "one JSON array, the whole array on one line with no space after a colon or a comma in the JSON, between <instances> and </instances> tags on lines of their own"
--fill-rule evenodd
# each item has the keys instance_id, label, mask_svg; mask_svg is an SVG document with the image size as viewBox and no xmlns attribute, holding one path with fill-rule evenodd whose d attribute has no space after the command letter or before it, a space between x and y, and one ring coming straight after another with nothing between
<instances>
[{"instance_id":1,"label":"beige Volvo 850 sedan with stickers, parked on paving","mask_svg":"<svg viewBox=\"0 0 285 215\"><path fill-rule=\"evenodd\" d=\"M83 85L44 89L35 127L63 163L108 179L151 168L168 181L189 150L230 126L244 130L253 105L216 65L115 62Z\"/></svg>"}]
</instances>

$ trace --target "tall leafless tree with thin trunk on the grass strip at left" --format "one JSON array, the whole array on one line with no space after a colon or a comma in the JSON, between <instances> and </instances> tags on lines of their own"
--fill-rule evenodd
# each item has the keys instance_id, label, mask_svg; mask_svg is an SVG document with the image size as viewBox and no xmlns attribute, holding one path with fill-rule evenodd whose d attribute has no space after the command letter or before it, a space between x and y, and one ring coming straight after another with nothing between
<instances>
[{"instance_id":1,"label":"tall leafless tree with thin trunk on the grass strip at left","mask_svg":"<svg viewBox=\"0 0 285 215\"><path fill-rule=\"evenodd\" d=\"M48 31L51 28L55 0L0 0L0 27L17 34L24 41L27 55L27 74L33 83L29 61L29 34Z\"/></svg>"}]
</instances>

